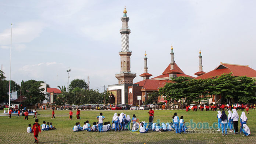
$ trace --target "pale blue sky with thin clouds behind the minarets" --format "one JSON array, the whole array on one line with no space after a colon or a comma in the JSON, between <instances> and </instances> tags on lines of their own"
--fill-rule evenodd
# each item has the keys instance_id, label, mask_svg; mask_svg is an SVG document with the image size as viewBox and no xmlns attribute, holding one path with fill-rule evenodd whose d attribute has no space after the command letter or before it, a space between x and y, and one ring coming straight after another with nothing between
<instances>
[{"instance_id":1,"label":"pale blue sky with thin clouds behind the minarets","mask_svg":"<svg viewBox=\"0 0 256 144\"><path fill-rule=\"evenodd\" d=\"M175 63L196 77L199 49L203 71L220 62L256 69L255 0L11 0L0 1L0 64L7 80L41 80L51 88L90 77L90 88L118 84L124 5L134 83L148 72L161 75ZM57 74L58 73L58 74ZM58 77L57 77L58 75Z\"/></svg>"}]
</instances>

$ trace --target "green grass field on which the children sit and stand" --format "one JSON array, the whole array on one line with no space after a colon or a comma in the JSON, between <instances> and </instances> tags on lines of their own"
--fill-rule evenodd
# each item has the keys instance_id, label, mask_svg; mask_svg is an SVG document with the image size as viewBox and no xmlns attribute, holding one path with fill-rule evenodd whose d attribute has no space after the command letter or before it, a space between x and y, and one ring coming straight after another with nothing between
<instances>
[{"instance_id":1,"label":"green grass field on which the children sit and stand","mask_svg":"<svg viewBox=\"0 0 256 144\"><path fill-rule=\"evenodd\" d=\"M248 117L247 125L250 128L251 135L249 137L244 137L242 134L233 135L228 133L228 136L222 136L221 133L188 133L188 134L175 134L174 131L171 132L152 132L148 133L132 133L129 131L121 132L73 132L72 128L75 125L75 122L80 122L83 126L83 122L89 120L90 124L97 122L96 117L100 112L103 112L103 116L106 117L104 121L112 121L114 112L129 114L132 118L132 115L135 114L139 121L148 122L149 115L147 114L148 110L102 110L102 111L81 111L82 119L73 119L68 120L68 110L55 110L55 119L51 119L50 110L38 110L39 114L39 124L41 125L43 121L52 122L56 126L56 130L43 131L39 133L38 139L39 143L49 143L49 144L73 144L73 143L95 143L95 144L255 144L255 128L256 128L256 110L250 110ZM3 110L0 111L3 113ZM209 125L213 125L214 122L217 122L217 112L214 111L189 111L185 110L155 110L154 122L157 119L160 119L160 122L171 122L174 112L178 113L178 116L184 116L184 122L189 122L190 119L193 119L193 122L208 122ZM73 117L76 117L76 110L73 110ZM227 113L227 112L226 112ZM241 111L238 111L239 117ZM27 133L26 128L28 124L35 122L33 116L29 116L29 120L23 120L24 116L15 117L12 116L11 119L8 119L7 116L0 117L0 143L1 144L27 144L34 143L33 134ZM240 130L240 122L238 125ZM192 129L188 129L192 131ZM200 130L201 132L215 132L215 129L195 129Z\"/></svg>"}]
</instances>

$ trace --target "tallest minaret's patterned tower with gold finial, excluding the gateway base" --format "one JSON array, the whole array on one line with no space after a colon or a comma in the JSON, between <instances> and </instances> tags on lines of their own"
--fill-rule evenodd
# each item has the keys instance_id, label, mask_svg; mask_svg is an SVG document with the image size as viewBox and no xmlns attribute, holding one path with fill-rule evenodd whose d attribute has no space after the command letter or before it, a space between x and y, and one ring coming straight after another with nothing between
<instances>
[{"instance_id":1,"label":"tallest minaret's patterned tower with gold finial, excluding the gateway base","mask_svg":"<svg viewBox=\"0 0 256 144\"><path fill-rule=\"evenodd\" d=\"M119 74L115 74L118 79L118 84L133 84L133 79L136 77L135 73L131 73L131 60L132 52L129 51L129 34L131 30L128 27L129 17L127 17L127 11L124 7L124 16L121 18L122 28L120 30L122 36L122 49L119 52L121 57L121 70Z\"/></svg>"}]
</instances>

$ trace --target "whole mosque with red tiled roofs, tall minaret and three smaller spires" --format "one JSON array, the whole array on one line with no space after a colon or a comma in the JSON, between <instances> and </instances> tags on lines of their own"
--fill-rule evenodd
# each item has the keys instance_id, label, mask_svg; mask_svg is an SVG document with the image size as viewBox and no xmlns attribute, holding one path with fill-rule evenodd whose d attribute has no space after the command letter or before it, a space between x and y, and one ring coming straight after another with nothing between
<instances>
[{"instance_id":1,"label":"whole mosque with red tiled roofs, tall minaret and three smaller spires","mask_svg":"<svg viewBox=\"0 0 256 144\"><path fill-rule=\"evenodd\" d=\"M122 28L120 29L121 33L121 52L120 55L120 73L115 74L115 77L118 80L118 84L108 85L108 91L111 92L110 103L113 104L140 104L142 105L150 92L156 92L159 88L162 88L167 82L171 82L171 78L176 77L189 77L191 79L195 78L193 76L185 74L179 66L174 61L174 48L171 46L171 62L168 64L163 73L157 77L150 78L152 74L147 71L147 54L145 52L144 57L144 73L139 75L142 77L142 81L134 83L134 78L136 73L132 73L130 69L131 55L132 52L129 51L129 34L131 30L128 27L129 17L127 17L127 10L124 8L124 15L121 17ZM205 79L211 78L213 76L221 75L223 73L231 73L234 76L248 76L256 78L256 71L251 69L248 65L238 65L238 64L227 64L222 63L216 67L216 69L205 73L203 71L202 65L202 55L199 51L199 71L195 73L198 77L196 79ZM216 103L220 100L220 96L214 95L212 99L209 99L210 103ZM159 96L158 102L167 103L167 100L164 100L164 96ZM178 103L178 101L177 101Z\"/></svg>"}]
</instances>

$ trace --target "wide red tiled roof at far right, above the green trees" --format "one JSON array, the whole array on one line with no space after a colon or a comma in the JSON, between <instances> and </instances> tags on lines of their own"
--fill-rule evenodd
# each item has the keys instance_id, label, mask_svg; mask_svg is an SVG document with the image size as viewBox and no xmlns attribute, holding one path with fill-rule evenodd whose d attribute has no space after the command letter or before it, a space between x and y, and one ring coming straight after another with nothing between
<instances>
[{"instance_id":1,"label":"wide red tiled roof at far right, above the green trees","mask_svg":"<svg viewBox=\"0 0 256 144\"><path fill-rule=\"evenodd\" d=\"M209 71L206 74L200 75L195 79L206 79L206 78L215 77L221 74L228 74L231 72L232 72L232 75L234 75L235 77L238 77L238 76L256 77L256 71L248 66L221 63L218 67L216 67L216 69Z\"/></svg>"}]
</instances>

